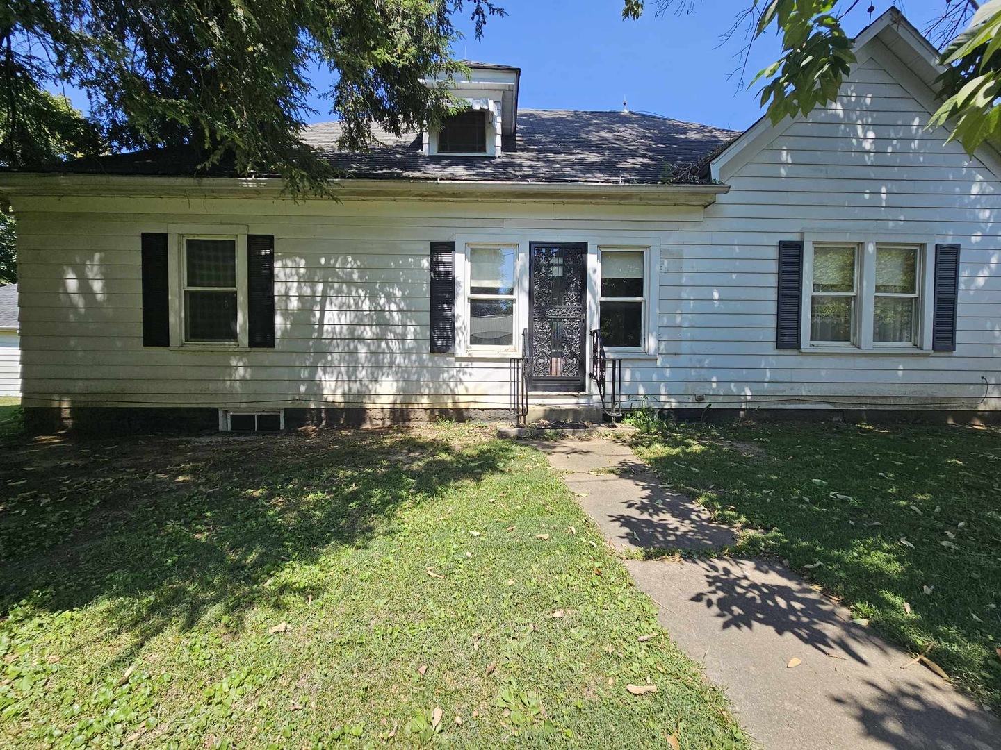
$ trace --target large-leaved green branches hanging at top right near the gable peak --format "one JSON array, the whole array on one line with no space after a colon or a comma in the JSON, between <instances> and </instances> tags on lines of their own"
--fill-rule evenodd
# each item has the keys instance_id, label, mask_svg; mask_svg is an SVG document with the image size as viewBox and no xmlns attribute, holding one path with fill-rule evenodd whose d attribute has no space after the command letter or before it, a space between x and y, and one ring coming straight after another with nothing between
<instances>
[{"instance_id":1,"label":"large-leaved green branches hanging at top right near the gable peak","mask_svg":"<svg viewBox=\"0 0 1001 750\"><path fill-rule=\"evenodd\" d=\"M692 12L695 0L656 0L656 13ZM751 0L726 36L747 24L748 47L775 30L782 38L782 56L762 70L762 106L773 122L834 101L855 62L852 40L842 27L855 10L872 11L860 0ZM624 0L623 17L639 18L644 0ZM1001 0L943 0L942 10L926 31L943 43L938 93L944 100L929 127L950 123L949 140L968 153L984 141L1001 138Z\"/></svg>"}]
</instances>

